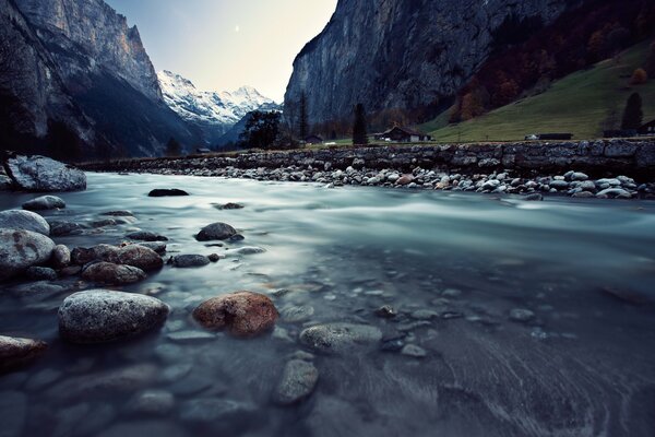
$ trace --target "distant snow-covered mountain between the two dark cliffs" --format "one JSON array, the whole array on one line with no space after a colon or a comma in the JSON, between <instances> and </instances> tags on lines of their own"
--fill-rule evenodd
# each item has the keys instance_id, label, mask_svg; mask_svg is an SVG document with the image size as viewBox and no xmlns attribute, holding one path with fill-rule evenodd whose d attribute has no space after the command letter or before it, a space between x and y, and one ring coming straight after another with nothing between
<instances>
[{"instance_id":1,"label":"distant snow-covered mountain between the two dark cliffs","mask_svg":"<svg viewBox=\"0 0 655 437\"><path fill-rule=\"evenodd\" d=\"M279 109L279 105L251 86L233 92L200 91L190 80L170 71L160 71L157 75L168 106L198 126L205 142L212 145L221 143L222 135L250 111Z\"/></svg>"}]
</instances>

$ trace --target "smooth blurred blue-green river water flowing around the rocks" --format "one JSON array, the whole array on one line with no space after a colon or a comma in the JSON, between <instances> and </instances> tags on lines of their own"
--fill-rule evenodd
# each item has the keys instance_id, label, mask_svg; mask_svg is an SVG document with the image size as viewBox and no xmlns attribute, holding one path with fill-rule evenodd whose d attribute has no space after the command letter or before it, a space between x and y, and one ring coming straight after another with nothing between
<instances>
[{"instance_id":1,"label":"smooth blurred blue-green river water flowing around the rocks","mask_svg":"<svg viewBox=\"0 0 655 437\"><path fill-rule=\"evenodd\" d=\"M191 196L146 197L174 187ZM31 197L0 194L0 209ZM69 247L118 244L139 227L166 235L169 255L266 252L165 267L117 288L154 294L171 314L157 332L106 345L58 338L58 306L93 284L62 280L57 292L27 294L3 286L0 334L50 349L0 377L2 436L655 435L655 310L644 303L655 299L653 202L96 174L86 191L61 197L68 208L50 215L136 217L56 238ZM215 208L227 202L245 208ZM195 241L218 221L246 239ZM209 334L190 318L203 299L240 290L305 317L254 340ZM383 305L398 316L377 317ZM535 317L513 321L514 308ZM384 338L330 355L299 342L303 328L326 322L371 324ZM403 355L403 344L427 356ZM282 369L298 351L315 355L319 382L302 402L276 405ZM135 401L144 391L154 399L145 406Z\"/></svg>"}]
</instances>

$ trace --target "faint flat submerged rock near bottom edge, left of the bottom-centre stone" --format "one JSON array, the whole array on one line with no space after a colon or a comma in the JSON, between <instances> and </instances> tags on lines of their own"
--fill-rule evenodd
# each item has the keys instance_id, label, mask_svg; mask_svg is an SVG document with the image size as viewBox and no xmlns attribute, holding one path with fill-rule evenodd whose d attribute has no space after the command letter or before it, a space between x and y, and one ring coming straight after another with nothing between
<instances>
[{"instance_id":1,"label":"faint flat submerged rock near bottom edge, left of the bottom-centre stone","mask_svg":"<svg viewBox=\"0 0 655 437\"><path fill-rule=\"evenodd\" d=\"M257 405L247 402L214 398L192 399L182 403L180 418L192 423L247 423L255 412Z\"/></svg>"}]
</instances>

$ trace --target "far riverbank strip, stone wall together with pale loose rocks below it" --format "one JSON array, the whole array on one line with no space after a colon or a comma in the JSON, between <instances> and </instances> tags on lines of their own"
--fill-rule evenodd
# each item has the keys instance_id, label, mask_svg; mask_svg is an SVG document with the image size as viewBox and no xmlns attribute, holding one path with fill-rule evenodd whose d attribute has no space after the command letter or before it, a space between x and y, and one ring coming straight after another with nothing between
<instances>
[{"instance_id":1,"label":"far riverbank strip, stone wall together with pale loose rocks below it","mask_svg":"<svg viewBox=\"0 0 655 437\"><path fill-rule=\"evenodd\" d=\"M241 153L96 163L93 172L319 182L575 198L655 199L655 141L456 145Z\"/></svg>"}]
</instances>

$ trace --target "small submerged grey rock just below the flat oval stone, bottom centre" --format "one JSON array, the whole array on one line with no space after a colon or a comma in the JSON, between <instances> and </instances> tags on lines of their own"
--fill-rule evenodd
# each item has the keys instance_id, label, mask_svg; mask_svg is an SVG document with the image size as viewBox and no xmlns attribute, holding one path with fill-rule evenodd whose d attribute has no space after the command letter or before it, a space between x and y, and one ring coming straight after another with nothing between
<instances>
[{"instance_id":1,"label":"small submerged grey rock just below the flat oval stone, bottom centre","mask_svg":"<svg viewBox=\"0 0 655 437\"><path fill-rule=\"evenodd\" d=\"M274 400L282 405L296 403L311 394L318 380L319 370L313 364L293 359L284 366Z\"/></svg>"}]
</instances>

